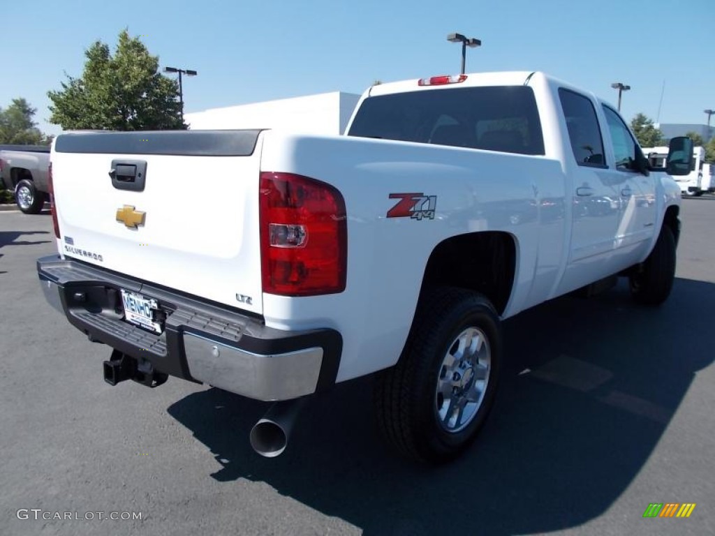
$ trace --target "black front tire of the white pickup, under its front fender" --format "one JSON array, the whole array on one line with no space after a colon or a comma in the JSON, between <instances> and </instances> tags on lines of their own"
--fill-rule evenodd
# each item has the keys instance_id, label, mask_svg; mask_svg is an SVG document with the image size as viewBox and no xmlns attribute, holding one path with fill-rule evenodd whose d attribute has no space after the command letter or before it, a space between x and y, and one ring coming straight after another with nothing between
<instances>
[{"instance_id":1,"label":"black front tire of the white pickup, under its front fender","mask_svg":"<svg viewBox=\"0 0 715 536\"><path fill-rule=\"evenodd\" d=\"M676 267L676 243L670 227L664 225L648 258L631 272L631 295L644 305L660 305L668 299Z\"/></svg>"}]
</instances>

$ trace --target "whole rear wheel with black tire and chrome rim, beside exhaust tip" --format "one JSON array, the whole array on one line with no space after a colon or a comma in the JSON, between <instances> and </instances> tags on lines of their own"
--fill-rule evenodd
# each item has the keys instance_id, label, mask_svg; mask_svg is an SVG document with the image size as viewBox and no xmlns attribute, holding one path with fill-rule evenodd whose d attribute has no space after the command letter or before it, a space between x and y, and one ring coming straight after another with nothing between
<instances>
[{"instance_id":1,"label":"whole rear wheel with black tire and chrome rim, beside exhaust tip","mask_svg":"<svg viewBox=\"0 0 715 536\"><path fill-rule=\"evenodd\" d=\"M407 457L453 460L488 417L501 359L499 317L485 297L452 287L428 292L398 364L378 374L380 432Z\"/></svg>"}]
</instances>

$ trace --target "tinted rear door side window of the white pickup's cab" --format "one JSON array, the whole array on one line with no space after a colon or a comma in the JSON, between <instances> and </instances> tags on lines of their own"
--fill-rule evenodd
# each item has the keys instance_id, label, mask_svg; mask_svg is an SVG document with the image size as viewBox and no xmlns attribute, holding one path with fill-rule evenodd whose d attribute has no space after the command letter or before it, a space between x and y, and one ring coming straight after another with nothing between
<instances>
[{"instance_id":1,"label":"tinted rear door side window of the white pickup's cab","mask_svg":"<svg viewBox=\"0 0 715 536\"><path fill-rule=\"evenodd\" d=\"M568 138L576 163L579 166L606 167L601 127L598 126L591 99L564 88L558 90L558 97L566 116Z\"/></svg>"}]
</instances>

